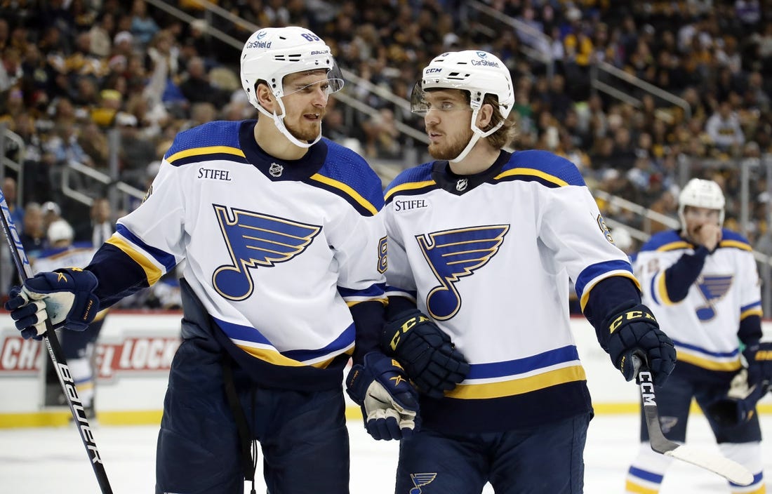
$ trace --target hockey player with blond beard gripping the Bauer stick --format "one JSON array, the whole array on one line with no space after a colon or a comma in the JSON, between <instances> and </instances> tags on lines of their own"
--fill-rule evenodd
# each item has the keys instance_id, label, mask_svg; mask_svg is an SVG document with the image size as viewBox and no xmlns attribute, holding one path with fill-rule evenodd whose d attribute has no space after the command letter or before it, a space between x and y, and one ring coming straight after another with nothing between
<instances>
[{"instance_id":1,"label":"hockey player with blond beard gripping the Bauer stick","mask_svg":"<svg viewBox=\"0 0 772 494\"><path fill-rule=\"evenodd\" d=\"M242 50L241 80L259 120L178 134L147 198L90 266L29 279L8 308L27 337L46 313L79 329L185 260L156 492L244 492L258 441L267 492L345 493L349 358L348 391L371 435L410 435L418 411L414 388L378 344L381 181L321 137L343 80L313 32L259 29Z\"/></svg>"}]
</instances>

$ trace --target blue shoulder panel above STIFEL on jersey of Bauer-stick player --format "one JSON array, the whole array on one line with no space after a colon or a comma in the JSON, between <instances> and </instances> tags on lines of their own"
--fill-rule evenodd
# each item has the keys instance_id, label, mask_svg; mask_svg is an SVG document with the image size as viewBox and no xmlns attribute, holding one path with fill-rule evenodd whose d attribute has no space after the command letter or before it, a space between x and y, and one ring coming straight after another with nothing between
<instances>
[{"instance_id":1,"label":"blue shoulder panel above STIFEL on jersey of Bauer-stick player","mask_svg":"<svg viewBox=\"0 0 772 494\"><path fill-rule=\"evenodd\" d=\"M240 125L239 121L218 120L183 130L174 138L164 160L173 166L219 159L246 163L239 146Z\"/></svg>"}]
</instances>

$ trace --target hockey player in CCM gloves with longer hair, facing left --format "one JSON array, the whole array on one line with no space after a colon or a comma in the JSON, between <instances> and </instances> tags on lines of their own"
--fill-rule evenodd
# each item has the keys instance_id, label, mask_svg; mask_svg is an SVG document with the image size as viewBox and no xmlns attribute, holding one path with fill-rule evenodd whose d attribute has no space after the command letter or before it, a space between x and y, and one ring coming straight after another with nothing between
<instances>
[{"instance_id":1,"label":"hockey player in CCM gloves with longer hair, facing left","mask_svg":"<svg viewBox=\"0 0 772 494\"><path fill-rule=\"evenodd\" d=\"M611 363L641 354L662 384L675 350L574 164L503 150L510 72L488 52L435 57L411 96L435 158L385 192L382 344L422 391L395 492L582 492L593 411L571 335L569 279ZM459 382L460 381L460 382Z\"/></svg>"}]
</instances>

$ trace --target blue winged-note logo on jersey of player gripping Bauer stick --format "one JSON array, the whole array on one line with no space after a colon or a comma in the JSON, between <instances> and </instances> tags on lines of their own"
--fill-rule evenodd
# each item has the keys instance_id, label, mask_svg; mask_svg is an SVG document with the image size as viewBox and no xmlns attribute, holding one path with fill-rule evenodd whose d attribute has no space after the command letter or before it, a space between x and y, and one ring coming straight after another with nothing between
<instances>
[{"instance_id":1,"label":"blue winged-note logo on jersey of player gripping Bauer stick","mask_svg":"<svg viewBox=\"0 0 772 494\"><path fill-rule=\"evenodd\" d=\"M286 218L254 211L212 205L231 258L212 275L212 286L230 300L252 295L252 270L271 268L303 253L321 232L318 225L306 225Z\"/></svg>"}]
</instances>

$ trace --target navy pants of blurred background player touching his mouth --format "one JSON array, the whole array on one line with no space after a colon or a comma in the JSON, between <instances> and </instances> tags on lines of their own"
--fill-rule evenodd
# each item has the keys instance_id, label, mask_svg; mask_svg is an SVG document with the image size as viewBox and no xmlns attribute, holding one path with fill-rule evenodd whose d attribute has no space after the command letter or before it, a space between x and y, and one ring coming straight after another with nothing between
<instances>
[{"instance_id":1,"label":"navy pants of blurred background player touching his mouth","mask_svg":"<svg viewBox=\"0 0 772 494\"><path fill-rule=\"evenodd\" d=\"M685 442L686 424L689 421L689 406L692 404L692 397L704 412L709 404L726 395L726 391L729 391L729 382L727 381L723 386L718 383L696 383L679 377L676 371L668 377L665 385L657 387L656 391L662 432L671 441ZM716 436L716 442L719 444L723 442L761 441L759 414L753 414L749 421L735 426L719 425L708 414L705 416L710 428L713 429L713 435ZM643 410L641 411L641 441L648 442L648 430L646 429Z\"/></svg>"}]
</instances>

